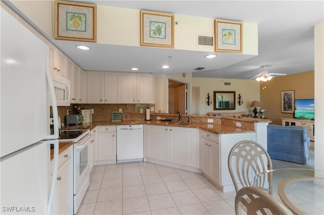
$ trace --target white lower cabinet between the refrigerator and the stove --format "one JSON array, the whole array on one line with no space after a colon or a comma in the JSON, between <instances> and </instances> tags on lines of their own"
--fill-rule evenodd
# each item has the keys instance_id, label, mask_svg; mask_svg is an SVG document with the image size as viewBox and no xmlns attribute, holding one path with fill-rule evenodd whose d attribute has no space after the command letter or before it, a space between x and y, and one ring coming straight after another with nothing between
<instances>
[{"instance_id":1,"label":"white lower cabinet between the refrigerator and the stove","mask_svg":"<svg viewBox=\"0 0 324 215\"><path fill-rule=\"evenodd\" d=\"M51 214L73 214L73 145L59 155ZM53 165L53 162L51 162ZM50 177L52 179L52 175Z\"/></svg>"}]
</instances>

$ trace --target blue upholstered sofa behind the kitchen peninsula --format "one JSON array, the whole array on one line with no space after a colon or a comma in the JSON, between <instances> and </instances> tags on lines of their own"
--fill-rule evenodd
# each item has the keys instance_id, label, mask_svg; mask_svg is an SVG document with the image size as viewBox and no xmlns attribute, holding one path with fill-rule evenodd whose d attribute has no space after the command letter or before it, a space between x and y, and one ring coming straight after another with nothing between
<instances>
[{"instance_id":1,"label":"blue upholstered sofa behind the kitchen peninsula","mask_svg":"<svg viewBox=\"0 0 324 215\"><path fill-rule=\"evenodd\" d=\"M267 126L268 153L272 159L306 164L309 138L306 127Z\"/></svg>"}]
</instances>

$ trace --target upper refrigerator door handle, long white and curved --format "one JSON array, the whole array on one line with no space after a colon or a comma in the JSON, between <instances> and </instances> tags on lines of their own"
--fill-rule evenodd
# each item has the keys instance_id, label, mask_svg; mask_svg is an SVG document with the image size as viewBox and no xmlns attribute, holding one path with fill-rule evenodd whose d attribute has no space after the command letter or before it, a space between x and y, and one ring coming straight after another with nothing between
<instances>
[{"instance_id":1,"label":"upper refrigerator door handle, long white and curved","mask_svg":"<svg viewBox=\"0 0 324 215\"><path fill-rule=\"evenodd\" d=\"M50 66L49 66L49 59L45 59L46 62L46 79L49 84L49 93L50 93L50 99L52 102L52 111L53 111L53 121L54 121L54 133L53 135L47 135L46 139L48 140L54 140L59 138L59 120L58 120L58 112L57 112L57 104L56 104L56 97L54 92L54 85L52 82L52 77L50 74Z\"/></svg>"}]
</instances>

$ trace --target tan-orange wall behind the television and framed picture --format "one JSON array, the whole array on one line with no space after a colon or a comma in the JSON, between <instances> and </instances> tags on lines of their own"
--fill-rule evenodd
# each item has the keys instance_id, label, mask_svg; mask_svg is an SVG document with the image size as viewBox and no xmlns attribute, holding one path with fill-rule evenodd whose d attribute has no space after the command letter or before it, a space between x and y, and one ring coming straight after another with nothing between
<instances>
[{"instance_id":1,"label":"tan-orange wall behind the television and framed picture","mask_svg":"<svg viewBox=\"0 0 324 215\"><path fill-rule=\"evenodd\" d=\"M263 89L266 87L265 89ZM260 103L272 124L281 124L281 118L293 118L292 113L281 113L281 91L295 91L295 99L314 98L314 71L272 78L260 82Z\"/></svg>"}]
</instances>

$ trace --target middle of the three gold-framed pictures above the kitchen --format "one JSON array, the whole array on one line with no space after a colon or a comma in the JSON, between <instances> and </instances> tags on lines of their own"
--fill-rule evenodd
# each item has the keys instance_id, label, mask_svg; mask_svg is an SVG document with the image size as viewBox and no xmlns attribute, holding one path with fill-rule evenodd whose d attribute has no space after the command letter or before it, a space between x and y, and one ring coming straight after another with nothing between
<instances>
[{"instance_id":1,"label":"middle of the three gold-framed pictures above the kitchen","mask_svg":"<svg viewBox=\"0 0 324 215\"><path fill-rule=\"evenodd\" d=\"M141 11L141 46L174 48L174 15Z\"/></svg>"}]
</instances>

